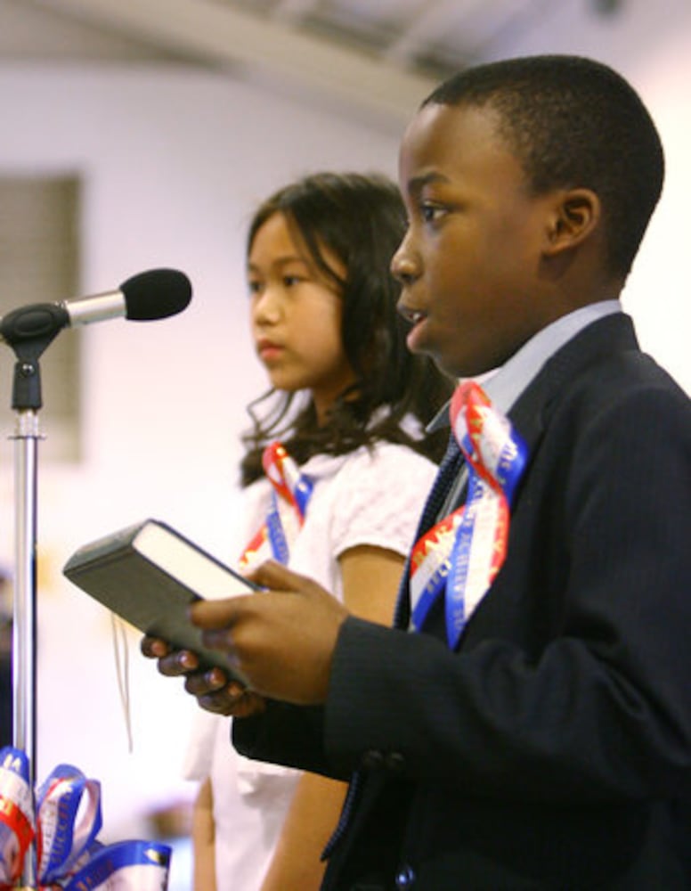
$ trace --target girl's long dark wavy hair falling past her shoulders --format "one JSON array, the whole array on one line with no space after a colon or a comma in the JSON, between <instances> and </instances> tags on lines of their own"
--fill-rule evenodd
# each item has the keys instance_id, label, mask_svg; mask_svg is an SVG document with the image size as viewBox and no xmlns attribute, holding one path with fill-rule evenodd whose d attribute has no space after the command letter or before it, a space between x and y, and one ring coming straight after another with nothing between
<instances>
[{"instance_id":1,"label":"girl's long dark wavy hair falling past her shoulders","mask_svg":"<svg viewBox=\"0 0 691 891\"><path fill-rule=\"evenodd\" d=\"M378 440L439 460L448 431L425 435L422 428L451 396L453 381L405 345L407 325L395 308L399 286L389 273L405 230L398 189L378 175L305 176L256 210L248 255L256 233L275 213L283 214L298 244L343 300L341 336L355 382L337 398L328 423L321 426L312 401L299 394L271 389L249 405L252 429L242 437L242 484L263 475L264 446L278 438L298 464L314 454L345 454ZM326 263L323 249L343 264L343 278ZM268 407L260 414L264 401ZM415 418L420 430L402 427L406 416Z\"/></svg>"}]
</instances>

